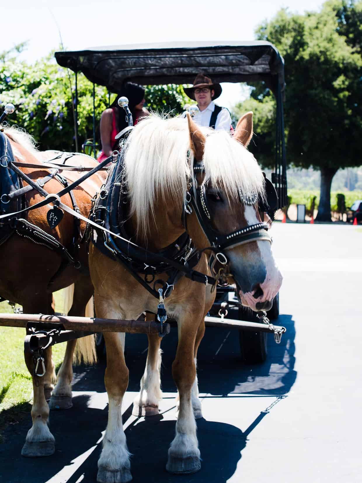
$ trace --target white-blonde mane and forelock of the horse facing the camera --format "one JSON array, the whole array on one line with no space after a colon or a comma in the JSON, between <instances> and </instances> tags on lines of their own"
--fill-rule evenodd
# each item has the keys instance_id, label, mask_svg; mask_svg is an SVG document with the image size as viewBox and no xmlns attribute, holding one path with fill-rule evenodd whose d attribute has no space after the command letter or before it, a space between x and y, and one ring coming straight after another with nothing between
<instances>
[{"instance_id":1,"label":"white-blonde mane and forelock of the horse facing the camera","mask_svg":"<svg viewBox=\"0 0 362 483\"><path fill-rule=\"evenodd\" d=\"M205 179L236 199L239 190L264 196L264 177L254 156L226 131L200 128L207 135L204 147ZM181 201L187 191L191 167L187 120L152 114L132 130L125 145L125 181L131 199L131 215L138 232L146 233L155 216L157 193ZM198 160L200 161L200 160ZM191 166L194 159L191 155Z\"/></svg>"}]
</instances>

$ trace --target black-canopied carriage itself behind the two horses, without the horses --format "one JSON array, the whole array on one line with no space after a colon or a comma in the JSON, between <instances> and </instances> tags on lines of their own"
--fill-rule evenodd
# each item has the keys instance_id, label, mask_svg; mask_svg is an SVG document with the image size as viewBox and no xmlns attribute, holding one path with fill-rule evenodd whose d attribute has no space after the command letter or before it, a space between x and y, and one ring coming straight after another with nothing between
<instances>
[{"instance_id":1,"label":"black-canopied carriage itself behind the two horses, without the horses","mask_svg":"<svg viewBox=\"0 0 362 483\"><path fill-rule=\"evenodd\" d=\"M278 193L277 205L269 208L271 218L275 208L287 204L286 159L284 146L283 90L284 63L277 49L267 42L230 43L171 43L125 45L118 47L100 47L86 51L56 52L57 62L75 72L83 72L94 84L107 86L109 92L120 92L123 83L131 80L139 84L164 85L169 83L187 84L195 78L197 71L207 72L217 82L252 82L262 81L270 88L277 99L276 126L276 163L272 173L272 182ZM75 84L77 86L77 82ZM77 106L77 93L75 95ZM96 119L93 116L93 139L96 136ZM78 137L78 133L75 132ZM96 153L97 145L92 146ZM260 322L257 316L239 307L235 290L218 286L217 300L210 312L219 315L222 312L228 318ZM223 307L222 307L223 306ZM275 320L279 313L278 294L272 308L267 312L270 320ZM232 316L232 317L231 317ZM206 319L206 325L216 325L217 321ZM225 323L227 324L227 322ZM235 327L235 326L234 326ZM246 363L265 360L267 333L239 329L241 357ZM101 334L97 336L97 347L104 347Z\"/></svg>"}]
</instances>

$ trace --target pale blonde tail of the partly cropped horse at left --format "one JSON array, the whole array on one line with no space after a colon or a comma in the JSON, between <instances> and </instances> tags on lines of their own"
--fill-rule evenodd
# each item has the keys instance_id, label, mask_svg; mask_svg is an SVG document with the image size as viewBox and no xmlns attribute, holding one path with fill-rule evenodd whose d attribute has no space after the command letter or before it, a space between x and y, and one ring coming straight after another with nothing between
<instances>
[{"instance_id":1,"label":"pale blonde tail of the partly cropped horse at left","mask_svg":"<svg viewBox=\"0 0 362 483\"><path fill-rule=\"evenodd\" d=\"M70 307L73 303L73 296L74 284L71 284L69 287L64 289L64 313L69 313ZM84 315L85 317L94 317L93 297L89 299L85 307ZM75 365L84 363L90 366L97 363L96 342L94 340L94 335L77 339L73 355L73 362Z\"/></svg>"}]
</instances>

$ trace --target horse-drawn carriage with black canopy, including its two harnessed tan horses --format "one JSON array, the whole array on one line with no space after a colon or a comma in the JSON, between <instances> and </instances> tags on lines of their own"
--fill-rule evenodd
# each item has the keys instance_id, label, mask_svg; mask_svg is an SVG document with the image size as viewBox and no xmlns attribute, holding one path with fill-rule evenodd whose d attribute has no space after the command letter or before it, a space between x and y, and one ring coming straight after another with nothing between
<instances>
[{"instance_id":1,"label":"horse-drawn carriage with black canopy, including its two harnessed tan horses","mask_svg":"<svg viewBox=\"0 0 362 483\"><path fill-rule=\"evenodd\" d=\"M2 288L5 297L23 303L26 312L49 314L0 317L0 325L27 327L28 331L25 348L28 369L33 375L33 426L22 454L54 453L54 437L47 426L49 407L44 396L44 391L52 386L51 345L69 341L49 406L70 407L74 339L85 335L74 329L85 333L104 331L105 383L110 405L97 480L130 481L121 412L128 372L123 355L124 338L117 334L148 335L146 369L134 412L158 413L159 347L169 331L167 312L179 324L173 376L180 396L176 437L169 450L167 470L192 473L200 469L195 418L201 417L201 404L195 360L205 323L242 328L241 341L246 354L248 347L256 347L261 358L265 354L259 334L272 330L278 341L283 332L282 327L269 324L264 313L266 324L238 320L240 315L231 320L224 318L227 304L232 311L239 311L235 292L254 311L270 310L281 283L270 251L268 226L260 218L257 206L264 212L274 211L286 200L283 60L273 45L261 42L125 46L59 52L56 59L60 65L76 73L84 72L91 81L107 85L113 92L119 91L125 79L147 85L171 80L187 83L204 70L218 82L263 80L277 97L276 172L272 181L278 205L275 198L271 201L274 192L270 182L268 185L253 156L245 149L252 137L250 113L239 120L233 138L225 132L198 128L189 114L187 120L150 116L133 130L124 132L122 149L99 165L84 156L42 154L29 145L22 146L23 139L14 132L5 130L1 134L1 188L6 186L8 192L1 193L0 223L7 230L2 241L9 250L8 259L14 244L9 241L15 241L14 237L21 244L20 249L17 247L19 253L26 253L25 244L29 242L46 247L37 255L44 261L38 263L39 280L33 281L37 297L26 295L30 287L24 275L22 284L13 283L22 290L12 292L9 286ZM93 130L95 133L95 119ZM222 164L218 162L221 158ZM105 179L100 173L109 162L111 169L102 185ZM86 174L74 179L71 173L76 171ZM89 176L94 175L98 180L92 188L86 184ZM71 194L72 189L77 196ZM97 197L93 197L95 189ZM89 240L88 264L85 255ZM50 260L50 253L55 254L55 261ZM50 273L44 274L42 269L48 256L49 266L54 266L50 270L47 265ZM23 263L22 273L27 273L26 257L17 263L18 268ZM76 292L72 316L52 315L53 290L73 281ZM225 287L235 282L237 289ZM91 295L92 284L98 318L73 316L84 315L84 302ZM218 284L223 285L223 290L215 304L214 290ZM40 302L43 309L39 309ZM146 321L137 320L145 311L156 314L156 320L149 315ZM215 311L220 313L219 318L212 316ZM258 334L259 338L251 337L247 342L247 333Z\"/></svg>"}]
</instances>

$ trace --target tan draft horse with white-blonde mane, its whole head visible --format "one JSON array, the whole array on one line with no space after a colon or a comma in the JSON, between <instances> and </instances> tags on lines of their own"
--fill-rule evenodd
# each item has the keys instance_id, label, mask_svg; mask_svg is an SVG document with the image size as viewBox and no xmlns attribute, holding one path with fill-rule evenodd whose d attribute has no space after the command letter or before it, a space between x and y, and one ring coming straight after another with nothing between
<instances>
[{"instance_id":1,"label":"tan draft horse with white-blonde mane, its whole head visible","mask_svg":"<svg viewBox=\"0 0 362 483\"><path fill-rule=\"evenodd\" d=\"M252 113L243 116L234 137L210 128L198 128L188 119L162 119L155 115L142 120L125 146L125 181L128 184L130 213L128 233L132 241L157 252L185 231L182 206L188 184L194 176L193 163L203 160L205 173L197 174L198 184L207 187L211 223L222 233L230 233L260 223L257 206L244 206L239 193L264 196L263 173L245 146L252 136ZM187 155L191 150L191 156ZM187 215L187 231L198 249L209 246L195 212ZM230 261L230 283L237 283L243 305L258 310L270 308L282 277L274 261L269 241L238 244L225 250ZM144 311L157 312L157 299L150 295L120 264L103 255L91 243L89 268L95 287L97 317L136 319ZM206 255L195 270L210 273ZM167 280L167 275L158 275ZM247 287L247 288L245 288ZM249 287L249 288L248 288ZM178 388L179 413L176 435L168 450L166 469L187 474L200 469L200 451L195 418L202 417L198 398L196 356L205 332L204 317L214 301L210 286L185 277L165 305L178 322L179 342L172 375ZM260 310L260 309L259 309ZM104 333L107 348L105 385L109 415L103 449L98 461L97 482L128 482L130 454L122 426L122 399L128 384L125 365L125 335ZM158 412L160 389L161 339L149 337L149 348L135 413Z\"/></svg>"}]
</instances>

